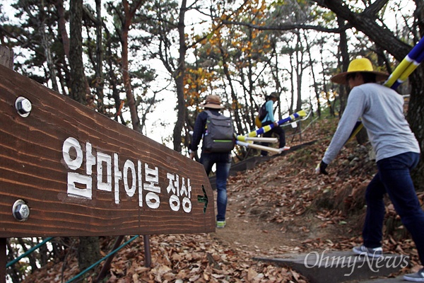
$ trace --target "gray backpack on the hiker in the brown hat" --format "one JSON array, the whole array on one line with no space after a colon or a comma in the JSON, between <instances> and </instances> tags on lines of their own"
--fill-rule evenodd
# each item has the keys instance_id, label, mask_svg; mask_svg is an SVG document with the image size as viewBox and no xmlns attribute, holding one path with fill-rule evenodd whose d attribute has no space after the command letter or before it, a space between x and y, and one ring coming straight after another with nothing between
<instances>
[{"instance_id":1,"label":"gray backpack on the hiker in the brown hat","mask_svg":"<svg viewBox=\"0 0 424 283\"><path fill-rule=\"evenodd\" d=\"M206 120L203 148L210 152L230 152L235 146L234 126L230 117L213 115L211 111Z\"/></svg>"}]
</instances>

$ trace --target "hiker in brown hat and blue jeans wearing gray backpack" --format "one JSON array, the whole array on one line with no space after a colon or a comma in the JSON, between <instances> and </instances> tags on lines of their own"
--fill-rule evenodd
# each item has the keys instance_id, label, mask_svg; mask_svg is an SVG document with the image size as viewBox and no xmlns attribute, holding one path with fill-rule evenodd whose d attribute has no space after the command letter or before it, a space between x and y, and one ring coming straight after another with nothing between
<instances>
[{"instance_id":1,"label":"hiker in brown hat and blue jeans wearing gray backpack","mask_svg":"<svg viewBox=\"0 0 424 283\"><path fill-rule=\"evenodd\" d=\"M203 164L206 175L209 175L213 164L216 164L216 227L226 225L227 210L227 178L230 173L231 151L235 145L235 134L230 117L221 115L223 109L219 96L206 96L194 123L192 143L189 145L190 158L194 159L199 143L203 137L199 162Z\"/></svg>"}]
</instances>

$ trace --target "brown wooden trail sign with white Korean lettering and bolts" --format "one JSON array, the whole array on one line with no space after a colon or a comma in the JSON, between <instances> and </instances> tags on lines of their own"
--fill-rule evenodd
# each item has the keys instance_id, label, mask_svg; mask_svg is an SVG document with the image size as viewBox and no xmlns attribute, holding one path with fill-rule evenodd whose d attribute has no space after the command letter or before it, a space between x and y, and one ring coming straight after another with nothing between
<instances>
[{"instance_id":1,"label":"brown wooden trail sign with white Korean lettering and bolts","mask_svg":"<svg viewBox=\"0 0 424 283\"><path fill-rule=\"evenodd\" d=\"M0 65L0 238L211 231L200 163Z\"/></svg>"}]
</instances>

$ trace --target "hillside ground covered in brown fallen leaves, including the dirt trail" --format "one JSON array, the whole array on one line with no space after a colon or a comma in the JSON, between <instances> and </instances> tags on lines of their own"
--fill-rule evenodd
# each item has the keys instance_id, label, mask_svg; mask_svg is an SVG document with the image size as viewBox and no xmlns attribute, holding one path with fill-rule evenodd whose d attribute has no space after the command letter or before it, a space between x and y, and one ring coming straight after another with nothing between
<instances>
[{"instance_id":1,"label":"hillside ground covered in brown fallen leaves, including the dirt trail","mask_svg":"<svg viewBox=\"0 0 424 283\"><path fill-rule=\"evenodd\" d=\"M293 150L230 177L225 229L210 234L151 236L149 268L143 267L143 239L137 238L119 251L105 282L307 282L293 270L252 258L351 250L361 243L363 193L375 173L368 157L370 146L352 141L331 163L328 176L314 173L336 122L315 122L302 134L302 141L298 136L293 141L288 137ZM296 146L307 141L315 142ZM405 232L391 205L386 229L385 252L412 255L416 265L411 241L399 241ZM113 238L102 239L105 253L113 242ZM61 282L62 275L64 282L71 279L78 273L74 252L67 259L63 274L63 263L52 262L26 282ZM99 270L97 267L95 272ZM85 282L92 281L88 277Z\"/></svg>"}]
</instances>

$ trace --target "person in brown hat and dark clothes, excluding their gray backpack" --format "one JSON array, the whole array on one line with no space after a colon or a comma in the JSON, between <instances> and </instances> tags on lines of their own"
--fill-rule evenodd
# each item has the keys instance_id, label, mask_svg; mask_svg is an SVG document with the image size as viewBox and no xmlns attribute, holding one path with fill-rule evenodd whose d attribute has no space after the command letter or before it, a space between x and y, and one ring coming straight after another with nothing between
<instances>
[{"instance_id":1,"label":"person in brown hat and dark clothes, excluding their gray backpack","mask_svg":"<svg viewBox=\"0 0 424 283\"><path fill-rule=\"evenodd\" d=\"M221 115L219 110L224 107L221 105L219 96L207 96L203 105L205 110L210 110L212 115ZM190 158L194 159L202 136L206 132L206 120L208 114L205 111L200 112L194 124L192 143L189 145ZM216 164L216 227L224 228L225 212L227 210L227 178L230 173L231 151L229 152L208 152L202 148L199 162L203 164L206 175L209 175L213 164Z\"/></svg>"}]
</instances>

